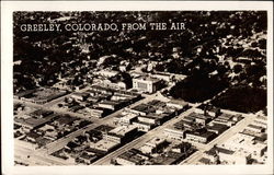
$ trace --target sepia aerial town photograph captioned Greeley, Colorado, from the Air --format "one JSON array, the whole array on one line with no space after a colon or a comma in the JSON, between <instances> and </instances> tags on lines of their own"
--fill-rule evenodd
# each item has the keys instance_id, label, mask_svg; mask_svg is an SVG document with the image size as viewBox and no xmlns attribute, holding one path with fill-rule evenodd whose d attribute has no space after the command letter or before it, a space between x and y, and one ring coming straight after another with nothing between
<instances>
[{"instance_id":1,"label":"sepia aerial town photograph captioned Greeley, Colorado, from the Air","mask_svg":"<svg viewBox=\"0 0 274 175\"><path fill-rule=\"evenodd\" d=\"M267 163L266 11L13 12L14 165Z\"/></svg>"}]
</instances>

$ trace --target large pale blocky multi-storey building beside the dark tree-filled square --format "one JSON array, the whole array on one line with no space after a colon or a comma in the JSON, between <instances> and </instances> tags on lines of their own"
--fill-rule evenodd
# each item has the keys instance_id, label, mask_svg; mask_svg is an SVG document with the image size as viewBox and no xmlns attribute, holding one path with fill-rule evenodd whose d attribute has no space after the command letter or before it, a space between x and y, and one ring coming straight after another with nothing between
<instances>
[{"instance_id":1,"label":"large pale blocky multi-storey building beside the dark tree-filled square","mask_svg":"<svg viewBox=\"0 0 274 175\"><path fill-rule=\"evenodd\" d=\"M133 89L140 92L155 93L161 86L161 80L148 77L138 77L133 79Z\"/></svg>"}]
</instances>

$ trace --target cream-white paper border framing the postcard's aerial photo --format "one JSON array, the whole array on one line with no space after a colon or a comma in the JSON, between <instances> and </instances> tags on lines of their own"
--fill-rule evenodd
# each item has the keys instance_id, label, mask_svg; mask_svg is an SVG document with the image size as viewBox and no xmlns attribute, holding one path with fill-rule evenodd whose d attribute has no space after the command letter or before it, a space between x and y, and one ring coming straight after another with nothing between
<instances>
[{"instance_id":1,"label":"cream-white paper border framing the postcard's aerial photo","mask_svg":"<svg viewBox=\"0 0 274 175\"><path fill-rule=\"evenodd\" d=\"M1 2L1 135L3 174L273 174L273 3L271 1L4 1ZM13 166L13 11L267 10L269 163L182 166Z\"/></svg>"}]
</instances>

